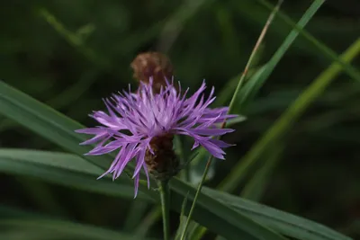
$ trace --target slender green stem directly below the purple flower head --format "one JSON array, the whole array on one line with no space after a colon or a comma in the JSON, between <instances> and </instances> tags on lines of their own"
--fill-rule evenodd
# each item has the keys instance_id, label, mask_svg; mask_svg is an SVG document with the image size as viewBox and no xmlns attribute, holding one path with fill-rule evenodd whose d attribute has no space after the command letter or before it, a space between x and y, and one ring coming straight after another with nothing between
<instances>
[{"instance_id":1,"label":"slender green stem directly below the purple flower head","mask_svg":"<svg viewBox=\"0 0 360 240\"><path fill-rule=\"evenodd\" d=\"M170 190L167 181L159 181L161 210L163 213L164 240L170 240Z\"/></svg>"}]
</instances>

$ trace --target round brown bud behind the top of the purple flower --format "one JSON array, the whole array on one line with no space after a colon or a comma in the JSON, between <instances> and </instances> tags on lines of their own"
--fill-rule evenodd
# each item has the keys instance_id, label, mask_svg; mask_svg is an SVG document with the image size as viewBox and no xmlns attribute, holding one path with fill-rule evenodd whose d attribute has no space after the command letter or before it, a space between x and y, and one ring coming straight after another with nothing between
<instances>
[{"instance_id":1,"label":"round brown bud behind the top of the purple flower","mask_svg":"<svg viewBox=\"0 0 360 240\"><path fill-rule=\"evenodd\" d=\"M171 81L173 77L173 66L165 54L159 52L140 53L130 64L134 70L134 78L138 81L148 83L153 77L153 90L160 92L160 88L166 85L166 79Z\"/></svg>"}]
</instances>

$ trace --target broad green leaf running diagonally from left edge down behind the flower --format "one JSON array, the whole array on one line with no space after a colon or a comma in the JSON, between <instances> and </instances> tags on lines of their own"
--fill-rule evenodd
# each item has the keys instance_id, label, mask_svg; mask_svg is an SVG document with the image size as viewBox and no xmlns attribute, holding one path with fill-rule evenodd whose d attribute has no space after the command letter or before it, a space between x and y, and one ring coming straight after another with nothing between
<instances>
[{"instance_id":1,"label":"broad green leaf running diagonally from left edge down behind the flower","mask_svg":"<svg viewBox=\"0 0 360 240\"><path fill-rule=\"evenodd\" d=\"M76 155L82 155L86 150L89 150L89 147L78 145L84 140L84 137L74 132L75 129L84 128L83 126L4 84L4 82L0 82L0 113L18 121L23 126ZM83 156L89 163L95 164L102 169L106 169L111 164L112 157L112 155ZM130 164L129 168L133 170L134 166ZM181 212L184 197L187 193L189 194L185 208L187 214L195 190L192 186L175 178L169 183L172 190L171 207L177 212ZM119 191L121 191L120 188ZM148 194L148 197L158 202L156 191L148 191L143 185L140 185L140 191ZM229 239L238 239L238 236L244 236L248 239L284 239L272 230L258 225L206 194L201 194L193 218L203 226L209 227L216 234Z\"/></svg>"}]
</instances>

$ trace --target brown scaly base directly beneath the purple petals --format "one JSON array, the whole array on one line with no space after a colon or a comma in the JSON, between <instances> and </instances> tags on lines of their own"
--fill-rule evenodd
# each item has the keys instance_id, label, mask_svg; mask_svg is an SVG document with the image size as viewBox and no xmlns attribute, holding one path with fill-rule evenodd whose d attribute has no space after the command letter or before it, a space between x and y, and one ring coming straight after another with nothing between
<instances>
[{"instance_id":1,"label":"brown scaly base directly beneath the purple petals","mask_svg":"<svg viewBox=\"0 0 360 240\"><path fill-rule=\"evenodd\" d=\"M145 154L148 172L157 180L169 180L180 170L180 163L173 150L173 138L171 134L152 138L150 147L154 154L149 150Z\"/></svg>"}]
</instances>

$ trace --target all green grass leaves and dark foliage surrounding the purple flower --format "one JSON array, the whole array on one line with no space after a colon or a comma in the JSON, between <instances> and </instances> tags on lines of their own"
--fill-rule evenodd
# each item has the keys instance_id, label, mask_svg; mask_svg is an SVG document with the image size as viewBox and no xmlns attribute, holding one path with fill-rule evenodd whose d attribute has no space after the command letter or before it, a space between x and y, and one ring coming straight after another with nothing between
<instances>
[{"instance_id":1,"label":"all green grass leaves and dark foliage surrounding the purple flower","mask_svg":"<svg viewBox=\"0 0 360 240\"><path fill-rule=\"evenodd\" d=\"M323 2L284 1L271 23L235 98L234 111L246 119L232 123L237 130L226 141L237 146L227 150L226 161L211 164L189 239L360 235L360 74L353 60L360 51L358 13L350 0L341 7ZM161 239L157 190L141 186L133 200L125 174L115 182L96 180L112 156L83 156L87 148L78 143L84 138L74 129L79 122L94 124L87 114L102 108L103 97L137 84L130 62L141 51L166 52L183 86L193 90L205 78L216 87L214 105L229 104L274 5L0 5L6 22L0 37L0 172L8 190L0 238ZM178 153L193 157L188 143L177 140ZM174 236L179 216L184 227L207 158L199 150L170 182Z\"/></svg>"}]
</instances>

